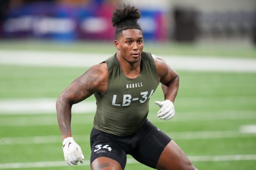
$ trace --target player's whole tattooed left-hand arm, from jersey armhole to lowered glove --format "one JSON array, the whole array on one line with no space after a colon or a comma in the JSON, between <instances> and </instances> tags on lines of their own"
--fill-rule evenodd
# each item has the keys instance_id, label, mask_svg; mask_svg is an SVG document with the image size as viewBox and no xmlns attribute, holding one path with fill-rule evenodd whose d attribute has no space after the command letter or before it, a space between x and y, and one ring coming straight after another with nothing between
<instances>
[{"instance_id":1,"label":"player's whole tattooed left-hand arm, from jersey armhole to lowered glove","mask_svg":"<svg viewBox=\"0 0 256 170\"><path fill-rule=\"evenodd\" d=\"M72 105L85 100L95 92L104 93L107 88L107 80L107 64L97 64L75 79L58 97L56 102L57 118L63 139L72 136L70 125Z\"/></svg>"}]
</instances>

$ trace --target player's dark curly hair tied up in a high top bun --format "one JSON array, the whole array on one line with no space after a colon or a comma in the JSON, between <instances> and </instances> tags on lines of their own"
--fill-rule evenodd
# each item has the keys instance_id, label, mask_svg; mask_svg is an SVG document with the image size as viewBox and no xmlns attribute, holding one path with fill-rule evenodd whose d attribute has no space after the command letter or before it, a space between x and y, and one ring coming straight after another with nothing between
<instances>
[{"instance_id":1,"label":"player's dark curly hair tied up in a high top bun","mask_svg":"<svg viewBox=\"0 0 256 170\"><path fill-rule=\"evenodd\" d=\"M141 18L141 13L134 6L124 4L123 8L116 8L111 18L113 26L116 27L115 38L119 39L124 30L138 29L142 31L137 22L139 18Z\"/></svg>"}]
</instances>

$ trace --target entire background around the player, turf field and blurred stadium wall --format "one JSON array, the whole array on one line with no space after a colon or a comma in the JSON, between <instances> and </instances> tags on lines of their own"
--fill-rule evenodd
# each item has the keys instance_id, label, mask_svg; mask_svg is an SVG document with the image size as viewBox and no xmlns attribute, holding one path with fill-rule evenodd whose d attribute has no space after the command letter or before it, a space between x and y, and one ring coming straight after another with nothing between
<instances>
[{"instance_id":1,"label":"entire background around the player, turf field and blurred stadium wall","mask_svg":"<svg viewBox=\"0 0 256 170\"><path fill-rule=\"evenodd\" d=\"M0 169L90 169L92 97L74 105L72 133L85 162L63 158L55 101L76 77L115 52L111 11L129 3L145 51L180 75L176 115L149 120L198 169L256 169L255 0L0 0ZM149 170L128 155L127 170Z\"/></svg>"}]
</instances>

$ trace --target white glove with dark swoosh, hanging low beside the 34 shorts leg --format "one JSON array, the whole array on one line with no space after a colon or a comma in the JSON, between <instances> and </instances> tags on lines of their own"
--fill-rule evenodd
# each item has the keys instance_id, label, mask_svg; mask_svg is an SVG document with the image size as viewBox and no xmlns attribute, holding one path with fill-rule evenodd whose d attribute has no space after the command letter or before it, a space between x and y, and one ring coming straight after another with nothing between
<instances>
[{"instance_id":1,"label":"white glove with dark swoosh, hanging low beside the 34 shorts leg","mask_svg":"<svg viewBox=\"0 0 256 170\"><path fill-rule=\"evenodd\" d=\"M83 156L82 150L80 146L77 143L75 143L72 137L65 138L62 144L64 158L68 165L78 165L78 161L83 163L83 159L85 158Z\"/></svg>"}]
</instances>

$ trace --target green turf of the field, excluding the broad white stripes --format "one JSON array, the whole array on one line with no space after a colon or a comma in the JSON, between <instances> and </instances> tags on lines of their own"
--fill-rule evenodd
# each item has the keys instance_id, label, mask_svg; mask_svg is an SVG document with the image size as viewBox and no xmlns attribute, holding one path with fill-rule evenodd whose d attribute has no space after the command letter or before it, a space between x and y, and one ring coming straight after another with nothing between
<instances>
[{"instance_id":1,"label":"green turf of the field, excluding the broad white stripes","mask_svg":"<svg viewBox=\"0 0 256 170\"><path fill-rule=\"evenodd\" d=\"M1 43L3 45L3 42ZM47 49L47 47L46 44L42 48ZM1 46L1 48L10 49L11 47L7 43L5 47ZM93 46L93 48L96 47ZM193 47L188 46L187 48L192 50ZM75 51L75 49L71 49L71 51ZM52 50L58 50L58 48L55 47ZM220 49L218 52L222 55L224 50ZM198 53L200 52L194 51L192 54L199 55ZM236 51L227 53L228 55L225 56L240 55L236 54ZM171 54L179 53L170 52ZM254 58L253 54L255 54L255 49L245 56ZM209 53L205 55L209 55ZM0 64L0 101L57 98L71 81L85 70L86 68ZM174 103L175 117L169 121L161 121L156 117L159 107L154 104L154 101L163 100L161 89L158 88L150 100L149 120L173 138L200 170L256 169L256 133L241 131L245 125L256 125L256 74L181 70L177 70L177 72L180 76L180 86ZM88 100L94 99L90 97ZM92 129L93 116L93 112L73 113L72 115L72 133L75 141L82 148L85 160L90 159L89 134ZM43 112L37 114L13 112L10 114L0 110L0 126L0 167L3 164L18 162L23 162L22 165L28 166L38 162L62 161L61 165L67 165L61 149L61 135L56 112L47 114ZM220 155L231 158L225 160L226 157L221 158ZM234 156L237 155L240 155L242 159L236 160ZM244 160L246 155L249 155L249 160ZM219 157L215 161L213 159L204 160L206 156ZM252 157L253 160L250 160ZM127 170L151 169L135 162L129 155L127 158L129 160L125 168ZM45 164L50 165L51 163ZM56 164L55 167L23 169L89 170L90 168L88 161L85 161L83 166L70 167Z\"/></svg>"}]
</instances>

